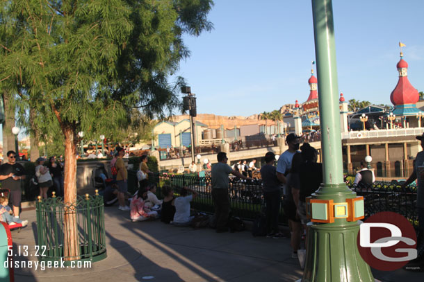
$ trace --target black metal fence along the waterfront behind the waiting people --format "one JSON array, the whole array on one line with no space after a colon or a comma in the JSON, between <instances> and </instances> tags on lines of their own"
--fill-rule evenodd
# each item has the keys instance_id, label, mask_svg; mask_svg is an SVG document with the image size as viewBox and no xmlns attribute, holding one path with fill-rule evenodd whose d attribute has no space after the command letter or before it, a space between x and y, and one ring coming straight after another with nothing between
<instances>
[{"instance_id":1,"label":"black metal fence along the waterfront behind the waiting people","mask_svg":"<svg viewBox=\"0 0 424 282\"><path fill-rule=\"evenodd\" d=\"M211 195L211 178L195 175L171 175L161 173L154 175L150 181L157 185L158 197L162 196L162 187L174 187L176 195L179 188L189 186L199 193L192 202L192 207L200 211L213 212ZM352 186L348 184L348 186ZM365 216L380 211L393 211L405 216L414 227L418 227L418 214L416 212L416 187L408 186L402 189L398 182L375 182L373 186L353 187L357 195L364 196ZM233 215L240 218L253 220L263 209L263 193L261 180L244 181L236 177L229 182L229 199ZM279 223L286 224L283 206L279 212Z\"/></svg>"}]
</instances>

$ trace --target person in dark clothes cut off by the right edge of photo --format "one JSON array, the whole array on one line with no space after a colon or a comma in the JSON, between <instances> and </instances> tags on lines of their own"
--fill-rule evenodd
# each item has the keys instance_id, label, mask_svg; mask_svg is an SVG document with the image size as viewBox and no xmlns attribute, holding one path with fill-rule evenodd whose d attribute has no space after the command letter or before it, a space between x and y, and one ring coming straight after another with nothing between
<instances>
[{"instance_id":1,"label":"person in dark clothes cut off by the right edge of photo","mask_svg":"<svg viewBox=\"0 0 424 282\"><path fill-rule=\"evenodd\" d=\"M416 139L421 141L421 148L424 150L424 133L421 136L416 136ZM405 270L421 271L424 270L424 151L418 152L414 161L414 170L406 182L402 184L402 189L405 189L409 184L416 182L416 209L418 211L418 236L416 249L418 257L409 261L405 265Z\"/></svg>"}]
</instances>

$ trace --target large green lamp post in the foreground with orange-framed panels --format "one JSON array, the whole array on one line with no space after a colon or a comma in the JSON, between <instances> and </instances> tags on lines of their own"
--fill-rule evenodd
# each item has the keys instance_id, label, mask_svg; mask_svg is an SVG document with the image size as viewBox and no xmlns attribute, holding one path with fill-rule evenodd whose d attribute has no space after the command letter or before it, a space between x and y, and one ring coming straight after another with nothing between
<instances>
[{"instance_id":1,"label":"large green lamp post in the foreground with orange-framed panels","mask_svg":"<svg viewBox=\"0 0 424 282\"><path fill-rule=\"evenodd\" d=\"M370 282L373 274L357 248L364 198L343 182L339 91L332 0L312 0L320 93L323 184L307 198L307 258L302 282Z\"/></svg>"}]
</instances>

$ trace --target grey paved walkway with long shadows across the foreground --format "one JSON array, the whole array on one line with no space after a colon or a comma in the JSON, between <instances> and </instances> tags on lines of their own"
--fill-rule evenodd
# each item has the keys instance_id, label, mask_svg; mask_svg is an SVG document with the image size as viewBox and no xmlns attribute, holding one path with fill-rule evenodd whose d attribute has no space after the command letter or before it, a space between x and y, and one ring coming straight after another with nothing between
<instances>
[{"instance_id":1,"label":"grey paved walkway with long shadows across the foreground","mask_svg":"<svg viewBox=\"0 0 424 282\"><path fill-rule=\"evenodd\" d=\"M22 212L28 227L13 231L15 254L19 246L35 245L35 210ZM105 208L108 257L89 269L19 268L15 281L295 281L302 277L291 258L290 240L254 238L249 231L215 233L212 229L173 227L162 222L131 222L128 212ZM32 250L32 252L31 252ZM16 256L15 261L36 261ZM149 277L149 276L153 276ZM143 278L144 277L144 278ZM423 273L375 272L384 282L418 282Z\"/></svg>"}]
</instances>

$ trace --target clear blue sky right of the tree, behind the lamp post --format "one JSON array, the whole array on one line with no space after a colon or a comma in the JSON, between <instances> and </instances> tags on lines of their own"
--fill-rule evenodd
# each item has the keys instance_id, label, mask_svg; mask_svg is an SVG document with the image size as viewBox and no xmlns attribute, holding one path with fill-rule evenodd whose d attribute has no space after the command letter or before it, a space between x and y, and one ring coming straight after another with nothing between
<instances>
[{"instance_id":1,"label":"clear blue sky right of the tree, behind the lamp post","mask_svg":"<svg viewBox=\"0 0 424 282\"><path fill-rule=\"evenodd\" d=\"M411 84L424 91L422 0L334 0L339 92L388 104L398 82L398 42L406 44ZM249 116L309 96L315 60L310 0L215 0L215 29L185 37L181 62L197 112Z\"/></svg>"}]
</instances>

